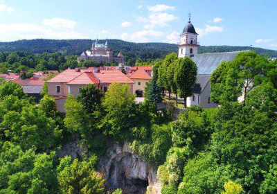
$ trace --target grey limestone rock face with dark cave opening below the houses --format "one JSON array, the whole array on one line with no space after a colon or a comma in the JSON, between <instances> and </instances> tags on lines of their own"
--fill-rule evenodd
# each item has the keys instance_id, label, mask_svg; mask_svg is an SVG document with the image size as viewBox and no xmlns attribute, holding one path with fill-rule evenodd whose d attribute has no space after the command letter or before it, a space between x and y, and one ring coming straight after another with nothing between
<instances>
[{"instance_id":1,"label":"grey limestone rock face with dark cave opening below the houses","mask_svg":"<svg viewBox=\"0 0 277 194\"><path fill-rule=\"evenodd\" d=\"M112 143L107 154L100 157L98 170L105 173L109 191L122 188L125 194L161 193L157 170L129 149L127 143Z\"/></svg>"}]
</instances>

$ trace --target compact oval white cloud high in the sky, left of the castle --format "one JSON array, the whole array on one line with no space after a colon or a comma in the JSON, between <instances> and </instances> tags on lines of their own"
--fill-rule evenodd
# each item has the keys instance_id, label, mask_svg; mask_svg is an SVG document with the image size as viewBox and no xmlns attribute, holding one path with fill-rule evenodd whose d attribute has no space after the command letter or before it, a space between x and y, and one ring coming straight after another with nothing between
<instances>
[{"instance_id":1,"label":"compact oval white cloud high in the sky, left of the castle","mask_svg":"<svg viewBox=\"0 0 277 194\"><path fill-rule=\"evenodd\" d=\"M76 25L75 21L58 17L54 17L52 19L44 19L42 23L45 26L50 26L52 28L74 28Z\"/></svg>"}]
</instances>

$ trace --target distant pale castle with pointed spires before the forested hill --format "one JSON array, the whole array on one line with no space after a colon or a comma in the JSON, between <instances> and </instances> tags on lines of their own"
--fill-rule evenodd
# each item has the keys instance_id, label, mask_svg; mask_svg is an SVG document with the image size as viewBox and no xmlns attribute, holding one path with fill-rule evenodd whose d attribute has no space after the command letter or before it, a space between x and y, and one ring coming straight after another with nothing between
<instances>
[{"instance_id":1,"label":"distant pale castle with pointed spires before the forested hill","mask_svg":"<svg viewBox=\"0 0 277 194\"><path fill-rule=\"evenodd\" d=\"M77 58L78 62L82 60L94 60L96 62L117 62L124 64L123 53L118 53L117 57L114 57L114 52L111 51L108 45L108 41L105 44L99 44L98 39L92 44L91 49L82 52Z\"/></svg>"}]
</instances>

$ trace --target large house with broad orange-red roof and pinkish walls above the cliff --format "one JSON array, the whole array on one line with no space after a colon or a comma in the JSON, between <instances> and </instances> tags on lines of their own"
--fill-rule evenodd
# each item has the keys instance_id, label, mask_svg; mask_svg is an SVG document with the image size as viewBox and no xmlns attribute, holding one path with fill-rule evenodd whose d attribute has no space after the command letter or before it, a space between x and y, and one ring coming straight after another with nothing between
<instances>
[{"instance_id":1,"label":"large house with broad orange-red roof and pinkish walls above the cliff","mask_svg":"<svg viewBox=\"0 0 277 194\"><path fill-rule=\"evenodd\" d=\"M64 112L65 98L69 94L77 96L80 94L80 89L89 84L107 91L109 85L113 82L128 84L131 92L133 92L134 81L117 69L66 69L46 83L49 96L55 98L57 110Z\"/></svg>"}]
</instances>

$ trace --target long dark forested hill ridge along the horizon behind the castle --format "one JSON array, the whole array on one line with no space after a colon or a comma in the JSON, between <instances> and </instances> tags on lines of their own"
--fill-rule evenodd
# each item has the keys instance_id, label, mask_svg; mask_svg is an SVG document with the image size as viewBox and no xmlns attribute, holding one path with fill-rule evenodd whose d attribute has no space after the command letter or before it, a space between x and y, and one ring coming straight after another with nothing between
<instances>
[{"instance_id":1,"label":"long dark forested hill ridge along the horizon behind the castle","mask_svg":"<svg viewBox=\"0 0 277 194\"><path fill-rule=\"evenodd\" d=\"M91 47L91 39L30 39L15 42L0 42L0 51L27 51L30 53L62 52L66 55L80 55L82 51ZM100 41L101 42L101 41ZM102 40L105 42L105 40ZM122 51L128 58L163 58L166 54L177 52L176 44L168 43L134 43L120 39L109 39L109 46L118 53ZM227 51L253 50L258 54L276 57L277 51L250 46L200 46L199 53L214 53Z\"/></svg>"}]
</instances>

